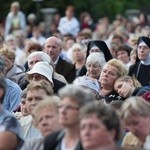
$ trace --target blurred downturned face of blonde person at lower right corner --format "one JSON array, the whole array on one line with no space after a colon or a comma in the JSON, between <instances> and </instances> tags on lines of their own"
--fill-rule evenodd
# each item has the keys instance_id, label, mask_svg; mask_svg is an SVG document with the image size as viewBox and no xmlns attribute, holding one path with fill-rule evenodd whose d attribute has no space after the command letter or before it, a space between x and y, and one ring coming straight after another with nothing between
<instances>
[{"instance_id":1,"label":"blurred downturned face of blonde person at lower right corner","mask_svg":"<svg viewBox=\"0 0 150 150\"><path fill-rule=\"evenodd\" d=\"M142 142L150 135L150 114L147 116L130 116L127 128Z\"/></svg>"}]
</instances>

